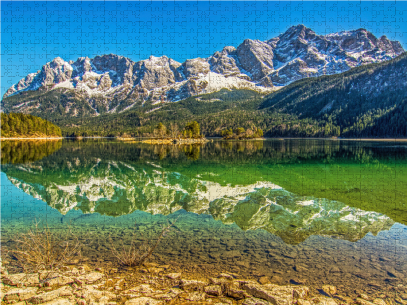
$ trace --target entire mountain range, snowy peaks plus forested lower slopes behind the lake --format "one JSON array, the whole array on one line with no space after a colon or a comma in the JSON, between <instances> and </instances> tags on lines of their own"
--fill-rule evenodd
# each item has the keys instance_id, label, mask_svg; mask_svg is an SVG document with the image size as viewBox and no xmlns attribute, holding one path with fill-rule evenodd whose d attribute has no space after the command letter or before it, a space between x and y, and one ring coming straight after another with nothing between
<instances>
[{"instance_id":1,"label":"entire mountain range, snowy peaks plus forested lower slopes behind the lake","mask_svg":"<svg viewBox=\"0 0 407 305\"><path fill-rule=\"evenodd\" d=\"M159 122L196 120L206 136L255 125L266 137L406 137L406 62L399 42L365 29L321 36L297 25L184 63L57 57L1 106L64 136L152 136Z\"/></svg>"}]
</instances>

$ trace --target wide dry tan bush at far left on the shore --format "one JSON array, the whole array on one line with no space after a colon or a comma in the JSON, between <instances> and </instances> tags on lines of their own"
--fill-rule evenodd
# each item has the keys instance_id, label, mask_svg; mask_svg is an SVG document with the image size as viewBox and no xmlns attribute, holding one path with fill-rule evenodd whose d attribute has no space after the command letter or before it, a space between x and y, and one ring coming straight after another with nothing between
<instances>
[{"instance_id":1,"label":"wide dry tan bush at far left on the shore","mask_svg":"<svg viewBox=\"0 0 407 305\"><path fill-rule=\"evenodd\" d=\"M70 228L54 231L48 225L40 226L37 221L16 241L7 253L16 259L17 268L28 273L59 269L69 264L74 256L80 255L83 246Z\"/></svg>"}]
</instances>

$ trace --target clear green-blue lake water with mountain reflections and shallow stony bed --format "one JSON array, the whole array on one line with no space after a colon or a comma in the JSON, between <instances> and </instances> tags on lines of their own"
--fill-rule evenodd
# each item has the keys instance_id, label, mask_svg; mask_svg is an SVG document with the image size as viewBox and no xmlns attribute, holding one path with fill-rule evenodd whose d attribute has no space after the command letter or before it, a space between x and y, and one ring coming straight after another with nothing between
<instances>
[{"instance_id":1,"label":"clear green-blue lake water with mountain reflections and shallow stony bed","mask_svg":"<svg viewBox=\"0 0 407 305\"><path fill-rule=\"evenodd\" d=\"M2 141L2 246L33 221L86 237L79 259L116 266L135 227L152 261L343 295L407 285L407 143L267 139L149 145Z\"/></svg>"}]
</instances>

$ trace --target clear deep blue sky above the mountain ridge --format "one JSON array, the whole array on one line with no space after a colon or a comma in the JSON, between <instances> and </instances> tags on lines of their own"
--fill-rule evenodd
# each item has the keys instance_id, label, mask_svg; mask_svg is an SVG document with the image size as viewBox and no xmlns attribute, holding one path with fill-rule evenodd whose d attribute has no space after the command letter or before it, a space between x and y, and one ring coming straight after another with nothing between
<instances>
[{"instance_id":1,"label":"clear deep blue sky above the mountain ridge","mask_svg":"<svg viewBox=\"0 0 407 305\"><path fill-rule=\"evenodd\" d=\"M368 29L407 49L407 2L1 2L1 97L56 56L115 53L134 61L207 57L291 25L317 34Z\"/></svg>"}]
</instances>

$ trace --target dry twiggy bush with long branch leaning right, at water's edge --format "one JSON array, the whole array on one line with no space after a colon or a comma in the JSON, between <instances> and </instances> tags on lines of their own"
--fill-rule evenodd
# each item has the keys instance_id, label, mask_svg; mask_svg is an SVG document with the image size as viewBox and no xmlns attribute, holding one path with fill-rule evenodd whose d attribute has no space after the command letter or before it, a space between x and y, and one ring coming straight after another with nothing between
<instances>
[{"instance_id":1,"label":"dry twiggy bush with long branch leaning right, at water's edge","mask_svg":"<svg viewBox=\"0 0 407 305\"><path fill-rule=\"evenodd\" d=\"M141 241L136 242L136 237L137 237L136 226L134 226L130 246L126 247L124 245L123 240L121 240L121 246L115 247L113 240L110 237L109 239L110 239L110 245L111 245L111 252L112 252L113 256L115 258L117 258L122 265L125 265L125 266L135 267L135 266L142 265L153 254L154 250L156 249L156 247L159 244L159 242L161 241L161 239L163 237L165 237L170 231L174 230L172 228L172 226L175 225L178 218L176 220L174 220L172 223L167 221L167 225L162 226L161 233L157 237L154 244L152 244L148 239L144 239L144 237L142 236L142 233L140 233L140 235L142 237Z\"/></svg>"}]
</instances>

